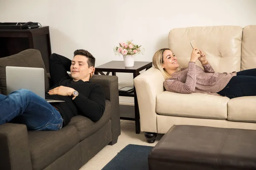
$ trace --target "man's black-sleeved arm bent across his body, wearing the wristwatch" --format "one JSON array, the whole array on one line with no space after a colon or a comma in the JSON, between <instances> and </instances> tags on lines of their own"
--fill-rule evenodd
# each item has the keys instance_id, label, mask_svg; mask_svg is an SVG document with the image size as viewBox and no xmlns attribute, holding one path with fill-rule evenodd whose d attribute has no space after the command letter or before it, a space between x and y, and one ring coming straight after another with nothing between
<instances>
[{"instance_id":1,"label":"man's black-sleeved arm bent across his body, wearing the wristwatch","mask_svg":"<svg viewBox=\"0 0 256 170\"><path fill-rule=\"evenodd\" d=\"M100 85L96 85L88 98L79 93L73 99L73 102L76 108L78 108L79 113L93 122L98 121L105 111L105 94Z\"/></svg>"}]
</instances>

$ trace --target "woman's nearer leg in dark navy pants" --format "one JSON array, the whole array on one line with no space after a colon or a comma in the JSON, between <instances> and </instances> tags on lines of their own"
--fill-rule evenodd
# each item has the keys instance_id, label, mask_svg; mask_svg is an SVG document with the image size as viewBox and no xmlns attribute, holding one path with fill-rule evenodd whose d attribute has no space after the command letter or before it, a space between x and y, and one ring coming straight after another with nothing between
<instances>
[{"instance_id":1,"label":"woman's nearer leg in dark navy pants","mask_svg":"<svg viewBox=\"0 0 256 170\"><path fill-rule=\"evenodd\" d=\"M241 96L256 96L256 77L234 76L218 94L230 99Z\"/></svg>"}]
</instances>

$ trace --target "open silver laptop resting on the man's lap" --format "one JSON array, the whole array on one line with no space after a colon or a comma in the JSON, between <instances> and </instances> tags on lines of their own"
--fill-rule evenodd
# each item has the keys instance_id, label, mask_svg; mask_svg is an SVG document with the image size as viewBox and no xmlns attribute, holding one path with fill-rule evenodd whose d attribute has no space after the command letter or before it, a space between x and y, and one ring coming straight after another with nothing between
<instances>
[{"instance_id":1,"label":"open silver laptop resting on the man's lap","mask_svg":"<svg viewBox=\"0 0 256 170\"><path fill-rule=\"evenodd\" d=\"M7 95L21 88L28 89L45 99L44 68L6 66ZM45 99L47 102L65 102Z\"/></svg>"}]
</instances>

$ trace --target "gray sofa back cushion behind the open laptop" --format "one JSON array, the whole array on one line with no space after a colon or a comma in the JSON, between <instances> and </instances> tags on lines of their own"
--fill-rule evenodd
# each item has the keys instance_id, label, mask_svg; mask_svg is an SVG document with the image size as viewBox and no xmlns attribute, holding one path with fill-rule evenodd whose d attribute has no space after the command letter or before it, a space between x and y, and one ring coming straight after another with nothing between
<instances>
[{"instance_id":1,"label":"gray sofa back cushion behind the open laptop","mask_svg":"<svg viewBox=\"0 0 256 170\"><path fill-rule=\"evenodd\" d=\"M27 49L18 54L0 58L0 91L5 95L7 94L6 66L44 68L45 91L49 89L49 80L40 51L35 49Z\"/></svg>"}]
</instances>

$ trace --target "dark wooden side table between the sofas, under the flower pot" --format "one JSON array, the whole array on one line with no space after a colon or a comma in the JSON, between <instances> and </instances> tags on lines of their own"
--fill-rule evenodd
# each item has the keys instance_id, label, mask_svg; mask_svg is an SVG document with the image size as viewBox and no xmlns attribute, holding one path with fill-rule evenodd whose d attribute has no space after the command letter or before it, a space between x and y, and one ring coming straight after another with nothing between
<instances>
[{"instance_id":1,"label":"dark wooden side table between the sofas, under the flower pot","mask_svg":"<svg viewBox=\"0 0 256 170\"><path fill-rule=\"evenodd\" d=\"M103 65L96 67L94 74L109 75L111 72L113 76L116 76L116 73L133 73L133 77L135 78L138 75L140 75L140 71L142 71L144 69L148 70L151 67L152 67L152 62L135 61L133 67L125 67L125 64L123 61L111 61L111 62L107 62ZM104 74L103 72L107 72L107 74ZM119 96L134 97L134 113L135 113L134 118L127 117L126 115L123 116L122 113L120 113L120 119L134 120L135 127L136 127L136 133L140 133L140 113L139 113L139 106L138 106L138 100L137 100L135 87L134 87L134 91L132 93L119 92Z\"/></svg>"}]
</instances>

